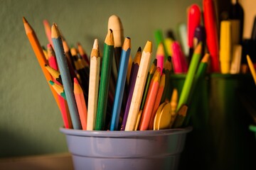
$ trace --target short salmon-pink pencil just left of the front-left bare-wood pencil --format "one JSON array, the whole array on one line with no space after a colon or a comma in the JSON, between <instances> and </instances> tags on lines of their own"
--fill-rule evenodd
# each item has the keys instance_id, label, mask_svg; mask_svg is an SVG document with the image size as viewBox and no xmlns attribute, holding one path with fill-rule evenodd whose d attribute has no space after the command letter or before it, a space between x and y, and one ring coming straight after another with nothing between
<instances>
[{"instance_id":1,"label":"short salmon-pink pencil just left of the front-left bare-wood pencil","mask_svg":"<svg viewBox=\"0 0 256 170\"><path fill-rule=\"evenodd\" d=\"M80 117L80 122L82 124L82 130L86 130L87 126L87 107L85 103L85 97L82 91L80 84L78 83L78 79L74 78L74 94L75 94L75 102L78 106L78 113Z\"/></svg>"}]
</instances>

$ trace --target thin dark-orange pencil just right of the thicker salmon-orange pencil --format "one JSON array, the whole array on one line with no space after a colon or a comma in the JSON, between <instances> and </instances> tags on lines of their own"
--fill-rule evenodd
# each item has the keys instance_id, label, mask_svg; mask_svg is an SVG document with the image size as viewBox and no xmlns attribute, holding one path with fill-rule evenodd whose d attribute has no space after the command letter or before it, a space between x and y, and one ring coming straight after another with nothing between
<instances>
[{"instance_id":1,"label":"thin dark-orange pencil just right of the thicker salmon-orange pencil","mask_svg":"<svg viewBox=\"0 0 256 170\"><path fill-rule=\"evenodd\" d=\"M164 92L165 79L166 79L166 75L165 75L165 69L164 69L162 74L161 74L159 89L158 89L157 94L156 94L156 101L154 102L153 111L151 113L151 118L150 118L150 121L149 121L149 130L153 130L153 128L154 128L154 117L156 115L157 108L160 105L161 96L163 95L163 92Z\"/></svg>"}]
</instances>

